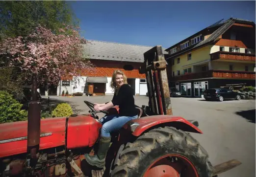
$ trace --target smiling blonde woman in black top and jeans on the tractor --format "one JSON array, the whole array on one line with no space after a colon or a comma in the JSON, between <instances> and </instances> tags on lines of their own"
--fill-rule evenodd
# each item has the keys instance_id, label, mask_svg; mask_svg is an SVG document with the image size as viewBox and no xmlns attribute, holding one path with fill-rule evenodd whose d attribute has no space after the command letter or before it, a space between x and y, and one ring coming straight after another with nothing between
<instances>
[{"instance_id":1,"label":"smiling blonde woman in black top and jeans on the tractor","mask_svg":"<svg viewBox=\"0 0 256 177\"><path fill-rule=\"evenodd\" d=\"M134 104L132 88L128 85L127 77L122 71L114 71L110 87L115 90L112 101L106 104L95 104L94 109L96 111L103 111L108 110L115 105L119 105L119 114L105 116L100 119L103 125L98 153L94 156L85 154L86 161L90 165L97 166L99 168L103 168L105 166L105 157L111 140L110 133L121 129L128 121L138 117Z\"/></svg>"}]
</instances>

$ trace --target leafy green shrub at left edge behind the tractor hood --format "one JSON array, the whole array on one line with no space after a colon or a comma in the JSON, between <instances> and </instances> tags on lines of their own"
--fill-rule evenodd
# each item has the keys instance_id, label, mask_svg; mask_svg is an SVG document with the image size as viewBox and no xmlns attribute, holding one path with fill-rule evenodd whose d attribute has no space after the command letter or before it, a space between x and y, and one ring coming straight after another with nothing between
<instances>
[{"instance_id":1,"label":"leafy green shrub at left edge behind the tractor hood","mask_svg":"<svg viewBox=\"0 0 256 177\"><path fill-rule=\"evenodd\" d=\"M6 91L0 91L0 123L27 120L27 111L22 110L22 104L13 99Z\"/></svg>"}]
</instances>

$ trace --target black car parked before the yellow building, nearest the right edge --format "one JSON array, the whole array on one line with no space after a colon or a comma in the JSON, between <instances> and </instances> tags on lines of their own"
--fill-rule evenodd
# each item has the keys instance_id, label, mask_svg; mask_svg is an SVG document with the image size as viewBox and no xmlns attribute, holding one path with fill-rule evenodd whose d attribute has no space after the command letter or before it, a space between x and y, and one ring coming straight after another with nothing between
<instances>
[{"instance_id":1,"label":"black car parked before the yellow building, nearest the right edge","mask_svg":"<svg viewBox=\"0 0 256 177\"><path fill-rule=\"evenodd\" d=\"M229 100L229 99L236 99L240 100L241 96L239 93L232 91L228 88L210 88L205 90L204 93L205 100Z\"/></svg>"}]
</instances>

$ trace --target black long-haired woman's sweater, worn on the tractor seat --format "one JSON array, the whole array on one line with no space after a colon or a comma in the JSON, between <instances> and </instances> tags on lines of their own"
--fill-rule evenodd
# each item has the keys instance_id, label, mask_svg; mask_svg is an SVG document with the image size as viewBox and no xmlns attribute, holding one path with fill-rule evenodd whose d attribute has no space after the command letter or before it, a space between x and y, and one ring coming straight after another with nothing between
<instances>
[{"instance_id":1,"label":"black long-haired woman's sweater, worn on the tractor seat","mask_svg":"<svg viewBox=\"0 0 256 177\"><path fill-rule=\"evenodd\" d=\"M122 85L117 95L114 93L112 103L114 106L119 105L119 116L137 115L132 88L128 84Z\"/></svg>"}]
</instances>

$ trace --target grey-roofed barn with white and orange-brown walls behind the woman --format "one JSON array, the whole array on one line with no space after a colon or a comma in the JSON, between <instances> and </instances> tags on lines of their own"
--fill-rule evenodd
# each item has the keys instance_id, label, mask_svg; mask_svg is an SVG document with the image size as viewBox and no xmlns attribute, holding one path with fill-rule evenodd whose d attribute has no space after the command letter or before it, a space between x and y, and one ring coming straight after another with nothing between
<instances>
[{"instance_id":1,"label":"grey-roofed barn with white and orange-brown walls behind the woman","mask_svg":"<svg viewBox=\"0 0 256 177\"><path fill-rule=\"evenodd\" d=\"M40 89L42 95L61 95L68 90L69 94L82 92L84 95L112 95L110 88L111 77L116 69L122 70L128 84L133 88L134 95L146 95L146 75L139 74L139 67L143 65L144 53L152 46L110 43L89 40L84 44L86 58L95 66L95 72L83 71L82 76L75 76L79 83L72 83L71 78L62 78L58 87L51 87L48 92ZM168 54L168 52L165 52Z\"/></svg>"}]
</instances>

